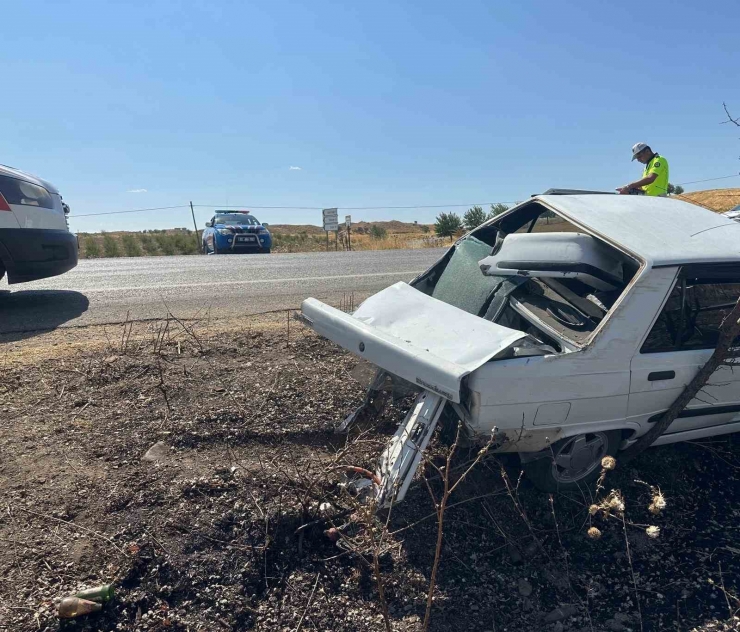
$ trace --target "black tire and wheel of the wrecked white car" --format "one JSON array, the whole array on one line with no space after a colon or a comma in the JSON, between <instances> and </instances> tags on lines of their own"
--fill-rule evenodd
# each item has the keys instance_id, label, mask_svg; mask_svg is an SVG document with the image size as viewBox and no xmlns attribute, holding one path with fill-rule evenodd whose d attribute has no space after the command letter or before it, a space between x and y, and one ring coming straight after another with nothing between
<instances>
[{"instance_id":1,"label":"black tire and wheel of the wrecked white car","mask_svg":"<svg viewBox=\"0 0 740 632\"><path fill-rule=\"evenodd\" d=\"M524 472L543 492L577 491L599 477L601 459L614 456L621 440L619 430L566 437L552 445L551 456L524 463ZM573 466L568 469L566 463Z\"/></svg>"}]
</instances>

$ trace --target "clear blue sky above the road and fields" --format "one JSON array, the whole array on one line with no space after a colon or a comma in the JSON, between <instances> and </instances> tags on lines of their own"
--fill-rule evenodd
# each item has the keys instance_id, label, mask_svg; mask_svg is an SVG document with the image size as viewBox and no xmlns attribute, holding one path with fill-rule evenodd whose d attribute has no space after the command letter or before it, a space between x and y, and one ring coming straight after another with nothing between
<instances>
[{"instance_id":1,"label":"clear blue sky above the road and fields","mask_svg":"<svg viewBox=\"0 0 740 632\"><path fill-rule=\"evenodd\" d=\"M719 125L723 101L740 116L737 0L26 0L2 13L0 163L54 182L73 214L192 200L343 216L613 189L637 177L643 140L675 183L740 171L740 130ZM686 188L724 186L740 178ZM185 209L72 221L191 225Z\"/></svg>"}]
</instances>

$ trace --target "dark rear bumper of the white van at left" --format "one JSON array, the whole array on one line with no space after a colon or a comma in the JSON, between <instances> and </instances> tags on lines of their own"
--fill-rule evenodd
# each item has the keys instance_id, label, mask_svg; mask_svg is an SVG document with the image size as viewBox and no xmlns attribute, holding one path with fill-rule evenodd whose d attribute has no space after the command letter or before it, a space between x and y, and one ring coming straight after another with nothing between
<instances>
[{"instance_id":1,"label":"dark rear bumper of the white van at left","mask_svg":"<svg viewBox=\"0 0 740 632\"><path fill-rule=\"evenodd\" d=\"M77 265L77 236L66 230L0 229L0 259L8 283L56 276Z\"/></svg>"}]
</instances>

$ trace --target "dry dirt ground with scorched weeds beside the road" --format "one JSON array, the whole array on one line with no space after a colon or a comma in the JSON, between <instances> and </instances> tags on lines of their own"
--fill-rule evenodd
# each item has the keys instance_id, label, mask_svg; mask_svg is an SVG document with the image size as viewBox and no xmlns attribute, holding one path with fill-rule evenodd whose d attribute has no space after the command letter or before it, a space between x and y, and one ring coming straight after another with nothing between
<instances>
[{"instance_id":1,"label":"dry dirt ground with scorched weeds beside the road","mask_svg":"<svg viewBox=\"0 0 740 632\"><path fill-rule=\"evenodd\" d=\"M284 316L0 344L0 630L385 630L374 552L391 628L421 629L434 506L419 481L386 528L343 490L405 412L332 432L362 399L351 356ZM551 499L488 457L446 514L430 629L740 629L739 479L737 436L655 448L607 475L605 518L594 488ZM56 618L108 582L102 612Z\"/></svg>"}]
</instances>

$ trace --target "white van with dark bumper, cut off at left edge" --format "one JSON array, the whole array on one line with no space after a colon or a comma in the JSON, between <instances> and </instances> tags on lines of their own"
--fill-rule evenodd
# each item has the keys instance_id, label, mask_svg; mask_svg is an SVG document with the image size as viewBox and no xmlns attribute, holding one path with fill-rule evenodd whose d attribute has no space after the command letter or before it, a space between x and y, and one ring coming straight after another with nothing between
<instances>
[{"instance_id":1,"label":"white van with dark bumper, cut off at left edge","mask_svg":"<svg viewBox=\"0 0 740 632\"><path fill-rule=\"evenodd\" d=\"M34 281L77 265L77 237L56 187L0 165L0 279Z\"/></svg>"}]
</instances>

